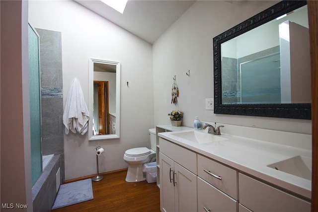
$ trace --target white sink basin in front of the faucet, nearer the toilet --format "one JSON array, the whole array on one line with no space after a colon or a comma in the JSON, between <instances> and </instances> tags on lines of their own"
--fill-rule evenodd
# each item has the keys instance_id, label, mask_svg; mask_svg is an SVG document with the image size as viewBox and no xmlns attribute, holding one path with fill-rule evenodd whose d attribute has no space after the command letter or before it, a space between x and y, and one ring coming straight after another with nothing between
<instances>
[{"instance_id":1,"label":"white sink basin in front of the faucet, nearer the toilet","mask_svg":"<svg viewBox=\"0 0 318 212\"><path fill-rule=\"evenodd\" d=\"M227 140L220 136L215 136L208 133L203 133L199 131L189 131L189 132L180 132L173 133L173 136L179 137L181 139L185 139L187 141L193 141L197 143L209 143L214 141L224 141Z\"/></svg>"}]
</instances>

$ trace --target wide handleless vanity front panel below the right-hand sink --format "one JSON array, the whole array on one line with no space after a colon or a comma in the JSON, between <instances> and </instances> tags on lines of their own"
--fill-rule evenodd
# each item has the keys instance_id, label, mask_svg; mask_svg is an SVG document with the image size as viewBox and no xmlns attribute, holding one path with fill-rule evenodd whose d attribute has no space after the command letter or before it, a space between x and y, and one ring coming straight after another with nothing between
<instances>
[{"instance_id":1,"label":"wide handleless vanity front panel below the right-hand sink","mask_svg":"<svg viewBox=\"0 0 318 212\"><path fill-rule=\"evenodd\" d=\"M311 204L239 173L239 203L257 212L310 212Z\"/></svg>"}]
</instances>

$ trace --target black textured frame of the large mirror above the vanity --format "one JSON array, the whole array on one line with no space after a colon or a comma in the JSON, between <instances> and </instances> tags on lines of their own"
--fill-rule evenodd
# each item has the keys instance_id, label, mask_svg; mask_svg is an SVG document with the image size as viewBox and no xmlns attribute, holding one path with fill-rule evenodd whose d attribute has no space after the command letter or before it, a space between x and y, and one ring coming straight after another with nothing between
<instances>
[{"instance_id":1,"label":"black textured frame of the large mirror above the vanity","mask_svg":"<svg viewBox=\"0 0 318 212\"><path fill-rule=\"evenodd\" d=\"M222 104L221 44L306 4L306 0L280 1L213 38L215 114L311 119L311 103Z\"/></svg>"}]
</instances>

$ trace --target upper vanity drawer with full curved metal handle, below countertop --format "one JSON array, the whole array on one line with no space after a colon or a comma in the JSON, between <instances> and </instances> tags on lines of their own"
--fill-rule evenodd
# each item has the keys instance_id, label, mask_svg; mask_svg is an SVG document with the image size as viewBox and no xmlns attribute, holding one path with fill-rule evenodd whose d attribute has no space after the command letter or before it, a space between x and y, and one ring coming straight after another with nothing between
<instances>
[{"instance_id":1,"label":"upper vanity drawer with full curved metal handle, below countertop","mask_svg":"<svg viewBox=\"0 0 318 212\"><path fill-rule=\"evenodd\" d=\"M212 174L220 176L221 179L212 176ZM234 199L238 199L236 170L202 155L198 155L198 175Z\"/></svg>"}]
</instances>

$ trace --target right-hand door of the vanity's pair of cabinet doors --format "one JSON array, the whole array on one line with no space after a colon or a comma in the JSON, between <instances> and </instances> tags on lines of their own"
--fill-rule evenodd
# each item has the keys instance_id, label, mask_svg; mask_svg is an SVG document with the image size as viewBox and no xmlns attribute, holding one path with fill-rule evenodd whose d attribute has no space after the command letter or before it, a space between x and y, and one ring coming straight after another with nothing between
<instances>
[{"instance_id":1,"label":"right-hand door of the vanity's pair of cabinet doors","mask_svg":"<svg viewBox=\"0 0 318 212\"><path fill-rule=\"evenodd\" d=\"M175 212L197 211L197 176L174 162Z\"/></svg>"}]
</instances>

